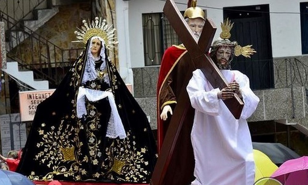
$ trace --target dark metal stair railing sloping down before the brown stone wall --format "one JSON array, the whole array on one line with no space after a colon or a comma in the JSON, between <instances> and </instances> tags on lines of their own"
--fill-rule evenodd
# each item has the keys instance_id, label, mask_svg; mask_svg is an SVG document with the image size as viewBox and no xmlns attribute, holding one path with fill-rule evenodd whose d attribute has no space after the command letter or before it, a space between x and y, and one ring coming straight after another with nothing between
<instances>
[{"instance_id":1,"label":"dark metal stair railing sloping down before the brown stone wall","mask_svg":"<svg viewBox=\"0 0 308 185\"><path fill-rule=\"evenodd\" d=\"M21 70L33 70L36 78L57 86L82 48L62 49L26 26L14 26L16 20L4 12L0 14L0 21L6 22L7 57L17 61Z\"/></svg>"}]
</instances>

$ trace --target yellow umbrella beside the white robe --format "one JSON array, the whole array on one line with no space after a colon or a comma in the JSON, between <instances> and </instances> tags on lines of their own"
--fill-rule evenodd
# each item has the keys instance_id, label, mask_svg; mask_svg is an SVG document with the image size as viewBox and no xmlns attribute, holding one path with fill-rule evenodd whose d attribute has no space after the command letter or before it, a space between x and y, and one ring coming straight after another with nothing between
<instances>
[{"instance_id":1,"label":"yellow umbrella beside the white robe","mask_svg":"<svg viewBox=\"0 0 308 185\"><path fill-rule=\"evenodd\" d=\"M278 169L270 158L261 151L253 149L253 159L256 171L254 182L263 177L270 177Z\"/></svg>"}]
</instances>

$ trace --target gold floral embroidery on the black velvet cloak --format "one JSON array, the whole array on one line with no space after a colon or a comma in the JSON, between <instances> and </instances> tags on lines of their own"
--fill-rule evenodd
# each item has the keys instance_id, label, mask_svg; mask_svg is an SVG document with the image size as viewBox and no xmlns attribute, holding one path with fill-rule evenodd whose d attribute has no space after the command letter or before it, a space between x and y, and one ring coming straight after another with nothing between
<instances>
[{"instance_id":1,"label":"gold floral embroidery on the black velvet cloak","mask_svg":"<svg viewBox=\"0 0 308 185\"><path fill-rule=\"evenodd\" d=\"M107 65L110 63L107 62ZM100 123L102 113L93 103L86 102L86 120L76 117L77 88L80 85L79 75L82 75L80 70L83 67L83 59L80 56L71 70L73 74L70 86L76 90L75 97L71 101L74 107L71 113L63 115L59 126L48 128L45 123L41 123L41 127L37 130L42 137L36 143L38 153L35 155L35 160L40 165L48 167L49 173L35 175L33 172L29 178L50 181L57 175L63 175L78 181L110 179L146 183L149 176L149 172L145 170L148 165L148 161L145 160L145 156L148 155L147 148L136 145L136 136L127 132L127 138L104 138L103 142L106 145L103 144L101 135L97 134L102 127ZM111 64L108 67L108 74L112 82L113 93L114 89L118 88L115 71L114 65ZM97 88L100 89L100 86L96 84L95 89ZM79 133L85 133L85 140L79 140ZM83 150L85 146L87 146L87 153ZM101 168L94 174L87 174L88 171L83 166L88 165Z\"/></svg>"}]
</instances>

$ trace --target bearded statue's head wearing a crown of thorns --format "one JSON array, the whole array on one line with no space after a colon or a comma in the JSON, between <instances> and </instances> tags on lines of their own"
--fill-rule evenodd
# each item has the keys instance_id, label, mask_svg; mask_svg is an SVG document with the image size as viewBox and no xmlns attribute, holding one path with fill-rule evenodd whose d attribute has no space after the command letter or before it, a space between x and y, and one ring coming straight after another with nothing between
<instances>
[{"instance_id":1,"label":"bearded statue's head wearing a crown of thorns","mask_svg":"<svg viewBox=\"0 0 308 185\"><path fill-rule=\"evenodd\" d=\"M234 47L237 42L228 39L216 40L211 47L210 56L219 69L231 69L231 61L234 57Z\"/></svg>"}]
</instances>

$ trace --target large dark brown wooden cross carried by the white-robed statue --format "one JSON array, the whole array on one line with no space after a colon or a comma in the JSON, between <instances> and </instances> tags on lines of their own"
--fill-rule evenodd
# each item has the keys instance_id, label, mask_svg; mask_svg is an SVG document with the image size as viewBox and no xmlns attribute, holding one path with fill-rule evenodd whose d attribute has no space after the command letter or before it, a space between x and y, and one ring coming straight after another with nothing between
<instances>
[{"instance_id":1,"label":"large dark brown wooden cross carried by the white-robed statue","mask_svg":"<svg viewBox=\"0 0 308 185\"><path fill-rule=\"evenodd\" d=\"M152 174L151 184L153 185L161 185L163 183L184 118L188 113L187 107L190 106L190 101L186 92L186 86L192 76L192 71L195 69L204 69L204 75L213 88L223 89L228 86L228 81L224 78L218 67L208 56L208 51L217 29L212 20L209 18L206 19L201 36L197 43L192 30L189 28L182 14L177 9L174 0L166 1L164 6L164 14L167 16L173 29L176 31L177 35L180 37L180 40L188 50L189 56L193 61L193 69L188 69L189 74L186 74L186 78L183 82L184 85L181 89L177 101L178 103L173 111L169 124L169 128L172 129L168 129L166 132L160 155ZM187 56L184 55L183 57ZM233 116L236 119L239 119L244 106L242 100L235 94L234 98L224 100L224 103Z\"/></svg>"}]
</instances>

